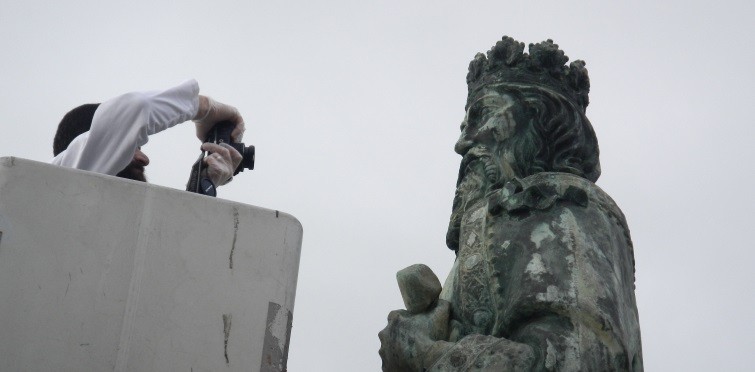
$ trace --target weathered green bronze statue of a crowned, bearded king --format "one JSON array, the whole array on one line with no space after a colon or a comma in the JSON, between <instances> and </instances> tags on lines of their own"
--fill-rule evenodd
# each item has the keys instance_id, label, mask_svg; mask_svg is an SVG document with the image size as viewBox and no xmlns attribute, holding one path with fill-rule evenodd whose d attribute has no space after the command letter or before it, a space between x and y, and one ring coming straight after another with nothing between
<instances>
[{"instance_id":1,"label":"weathered green bronze statue of a crowned, bearded king","mask_svg":"<svg viewBox=\"0 0 755 372\"><path fill-rule=\"evenodd\" d=\"M456 261L433 301L402 284L421 306L388 316L385 371L643 370L629 229L594 184L585 64L551 40L523 51L504 37L470 63Z\"/></svg>"}]
</instances>

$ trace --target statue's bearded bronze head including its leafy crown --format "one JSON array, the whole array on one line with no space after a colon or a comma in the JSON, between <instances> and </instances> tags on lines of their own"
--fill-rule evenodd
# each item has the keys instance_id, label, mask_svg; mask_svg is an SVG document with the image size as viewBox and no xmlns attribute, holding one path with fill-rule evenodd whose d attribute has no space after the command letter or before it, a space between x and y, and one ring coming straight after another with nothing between
<instances>
[{"instance_id":1,"label":"statue's bearded bronze head including its leafy crown","mask_svg":"<svg viewBox=\"0 0 755 372\"><path fill-rule=\"evenodd\" d=\"M585 116L590 80L547 40L524 44L510 37L469 64L466 115L455 145L463 156L447 243L458 249L468 207L509 181L541 172L563 172L595 182L598 141Z\"/></svg>"}]
</instances>

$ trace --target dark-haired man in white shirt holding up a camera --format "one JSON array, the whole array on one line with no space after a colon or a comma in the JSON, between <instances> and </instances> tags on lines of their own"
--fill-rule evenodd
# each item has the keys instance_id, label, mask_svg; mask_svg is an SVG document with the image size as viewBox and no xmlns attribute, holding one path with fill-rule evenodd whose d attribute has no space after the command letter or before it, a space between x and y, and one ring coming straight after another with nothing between
<instances>
[{"instance_id":1,"label":"dark-haired man in white shirt holding up a camera","mask_svg":"<svg viewBox=\"0 0 755 372\"><path fill-rule=\"evenodd\" d=\"M149 158L141 151L148 136L193 120L204 141L221 121L236 126L231 137L241 142L244 119L235 107L199 94L195 80L163 91L133 92L101 104L86 104L68 112L53 141L55 165L146 181ZM211 153L204 162L215 185L227 183L242 156L227 144L204 143Z\"/></svg>"}]
</instances>

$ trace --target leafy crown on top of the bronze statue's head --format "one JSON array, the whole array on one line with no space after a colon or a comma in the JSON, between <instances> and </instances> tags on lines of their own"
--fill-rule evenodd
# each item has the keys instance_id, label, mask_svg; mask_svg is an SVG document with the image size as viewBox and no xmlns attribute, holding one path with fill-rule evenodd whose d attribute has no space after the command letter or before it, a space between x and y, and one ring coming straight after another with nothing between
<instances>
[{"instance_id":1,"label":"leafy crown on top of the bronze statue's head","mask_svg":"<svg viewBox=\"0 0 755 372\"><path fill-rule=\"evenodd\" d=\"M589 103L590 78L585 62L576 60L566 66L569 57L553 40L530 44L504 36L488 51L487 57L477 53L469 63L467 74L467 105L478 90L489 84L513 83L535 85L561 93L584 112Z\"/></svg>"}]
</instances>

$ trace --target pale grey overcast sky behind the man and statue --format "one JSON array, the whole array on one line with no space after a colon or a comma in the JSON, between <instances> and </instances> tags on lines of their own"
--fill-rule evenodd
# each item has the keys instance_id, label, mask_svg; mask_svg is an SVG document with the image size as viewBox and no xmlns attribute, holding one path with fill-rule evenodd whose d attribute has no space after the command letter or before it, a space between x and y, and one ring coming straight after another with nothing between
<instances>
[{"instance_id":1,"label":"pale grey overcast sky behind the man and statue","mask_svg":"<svg viewBox=\"0 0 755 372\"><path fill-rule=\"evenodd\" d=\"M587 62L647 370L750 370L753 4L0 0L0 155L49 161L74 106L196 78L257 148L219 195L304 226L289 370L378 371L395 272L453 261L469 61L551 38ZM150 138L150 181L183 189L198 148L190 123Z\"/></svg>"}]
</instances>

